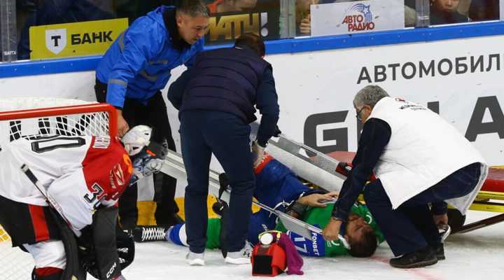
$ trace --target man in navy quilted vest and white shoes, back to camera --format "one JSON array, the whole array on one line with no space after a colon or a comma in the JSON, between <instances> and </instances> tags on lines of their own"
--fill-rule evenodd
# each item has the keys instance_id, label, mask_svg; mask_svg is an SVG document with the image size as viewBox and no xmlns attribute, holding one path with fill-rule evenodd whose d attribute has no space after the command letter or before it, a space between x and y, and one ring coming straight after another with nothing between
<instances>
[{"instance_id":1,"label":"man in navy quilted vest and white shoes, back to camera","mask_svg":"<svg viewBox=\"0 0 504 280\"><path fill-rule=\"evenodd\" d=\"M212 153L232 188L225 262L250 263L246 236L255 187L253 164L262 157L279 118L272 66L262 59L264 55L260 37L244 34L232 48L202 52L195 66L169 87L168 99L180 112L182 157L188 175L185 209L190 265L204 265ZM254 105L262 117L251 153L248 123L256 119Z\"/></svg>"}]
</instances>

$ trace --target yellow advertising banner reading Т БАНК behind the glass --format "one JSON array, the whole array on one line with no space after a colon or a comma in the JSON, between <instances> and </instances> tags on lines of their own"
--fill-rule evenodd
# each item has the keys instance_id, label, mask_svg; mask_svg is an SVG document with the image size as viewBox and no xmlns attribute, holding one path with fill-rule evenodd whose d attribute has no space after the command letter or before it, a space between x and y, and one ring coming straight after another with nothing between
<instances>
[{"instance_id":1,"label":"yellow advertising banner reading \u0422 \u0411\u0410\u041d\u041a behind the glass","mask_svg":"<svg viewBox=\"0 0 504 280\"><path fill-rule=\"evenodd\" d=\"M101 55L127 27L127 18L30 27L30 59Z\"/></svg>"}]
</instances>

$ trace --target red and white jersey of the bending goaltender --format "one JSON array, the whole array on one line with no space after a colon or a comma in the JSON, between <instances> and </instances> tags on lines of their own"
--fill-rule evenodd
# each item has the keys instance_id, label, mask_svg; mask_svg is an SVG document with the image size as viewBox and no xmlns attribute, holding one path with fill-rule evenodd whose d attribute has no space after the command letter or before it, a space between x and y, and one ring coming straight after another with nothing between
<instances>
[{"instance_id":1,"label":"red and white jersey of the bending goaltender","mask_svg":"<svg viewBox=\"0 0 504 280\"><path fill-rule=\"evenodd\" d=\"M117 137L31 137L0 148L0 195L16 202L48 205L22 172L26 164L62 207L73 230L90 225L99 204L116 204L133 171Z\"/></svg>"}]
</instances>

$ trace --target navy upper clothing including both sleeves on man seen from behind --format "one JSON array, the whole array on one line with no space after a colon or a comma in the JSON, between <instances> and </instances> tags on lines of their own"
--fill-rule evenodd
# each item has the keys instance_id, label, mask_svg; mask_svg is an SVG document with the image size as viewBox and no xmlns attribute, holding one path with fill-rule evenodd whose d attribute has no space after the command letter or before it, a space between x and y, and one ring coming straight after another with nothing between
<instances>
[{"instance_id":1,"label":"navy upper clothing including both sleeves on man seen from behind","mask_svg":"<svg viewBox=\"0 0 504 280\"><path fill-rule=\"evenodd\" d=\"M244 123L262 115L258 143L265 146L279 118L272 66L246 45L209 50L170 85L168 99L182 113L209 110L231 113Z\"/></svg>"}]
</instances>

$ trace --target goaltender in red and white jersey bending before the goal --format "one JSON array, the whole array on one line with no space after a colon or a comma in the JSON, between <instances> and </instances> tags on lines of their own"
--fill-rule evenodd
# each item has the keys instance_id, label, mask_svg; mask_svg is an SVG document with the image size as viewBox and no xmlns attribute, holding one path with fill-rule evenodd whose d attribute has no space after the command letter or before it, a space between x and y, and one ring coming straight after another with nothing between
<instances>
[{"instance_id":1,"label":"goaltender in red and white jersey bending before the goal","mask_svg":"<svg viewBox=\"0 0 504 280\"><path fill-rule=\"evenodd\" d=\"M89 257L93 276L124 279L113 205L131 182L160 170L167 151L151 134L145 125L133 127L121 140L124 147L117 137L62 135L0 146L0 223L13 246L33 256L31 279L85 279L78 271ZM91 247L80 261L76 237Z\"/></svg>"}]
</instances>

